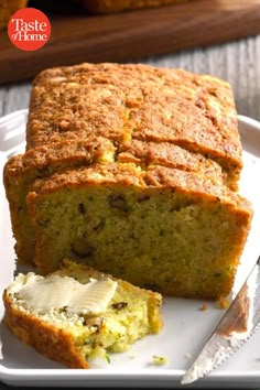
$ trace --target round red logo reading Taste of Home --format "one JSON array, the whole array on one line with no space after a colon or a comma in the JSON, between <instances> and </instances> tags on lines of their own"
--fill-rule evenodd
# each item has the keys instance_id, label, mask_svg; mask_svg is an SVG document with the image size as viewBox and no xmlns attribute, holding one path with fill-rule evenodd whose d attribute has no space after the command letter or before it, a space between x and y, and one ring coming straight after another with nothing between
<instances>
[{"instance_id":1,"label":"round red logo reading Taste of Home","mask_svg":"<svg viewBox=\"0 0 260 390\"><path fill-rule=\"evenodd\" d=\"M42 11L35 8L24 8L11 17L8 35L18 48L35 51L48 41L51 23Z\"/></svg>"}]
</instances>

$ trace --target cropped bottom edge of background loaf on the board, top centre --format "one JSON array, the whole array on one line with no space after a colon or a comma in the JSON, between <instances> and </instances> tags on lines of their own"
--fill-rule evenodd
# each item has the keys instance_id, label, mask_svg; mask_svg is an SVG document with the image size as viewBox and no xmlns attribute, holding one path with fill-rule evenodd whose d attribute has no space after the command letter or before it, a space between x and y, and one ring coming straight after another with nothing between
<instances>
[{"instance_id":1,"label":"cropped bottom edge of background loaf on the board, top centre","mask_svg":"<svg viewBox=\"0 0 260 390\"><path fill-rule=\"evenodd\" d=\"M91 13L113 13L134 9L158 8L185 3L191 0L80 0Z\"/></svg>"}]
</instances>

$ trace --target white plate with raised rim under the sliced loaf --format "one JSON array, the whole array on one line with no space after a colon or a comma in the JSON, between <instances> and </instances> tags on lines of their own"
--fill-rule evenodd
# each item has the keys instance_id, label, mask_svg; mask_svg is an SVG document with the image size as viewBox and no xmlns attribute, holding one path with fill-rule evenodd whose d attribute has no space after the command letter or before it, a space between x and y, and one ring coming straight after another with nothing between
<instances>
[{"instance_id":1,"label":"white plate with raised rim under the sliced loaf","mask_svg":"<svg viewBox=\"0 0 260 390\"><path fill-rule=\"evenodd\" d=\"M0 119L0 164L24 150L26 110L13 112ZM260 123L239 117L243 144L245 169L240 192L254 206L252 229L246 245L235 292L246 279L260 254ZM13 239L4 189L0 186L0 294L12 279L14 264ZM102 368L67 369L26 347L0 325L0 380L13 386L57 387L178 387L180 380L220 319L224 311L215 303L203 312L203 302L165 299L163 306L164 329L160 335L145 337L136 343L129 353L115 354L111 364ZM0 319L3 306L0 303ZM260 383L260 332L219 369L199 380L194 387L256 388ZM153 355L167 356L166 366L154 366Z\"/></svg>"}]
</instances>

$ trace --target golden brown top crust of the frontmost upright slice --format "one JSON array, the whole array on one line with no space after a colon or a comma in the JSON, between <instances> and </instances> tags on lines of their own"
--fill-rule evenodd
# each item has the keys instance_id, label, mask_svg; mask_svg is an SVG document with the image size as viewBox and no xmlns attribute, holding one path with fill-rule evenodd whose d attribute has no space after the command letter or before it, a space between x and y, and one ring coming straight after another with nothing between
<instances>
[{"instance_id":1,"label":"golden brown top crust of the frontmost upright slice","mask_svg":"<svg viewBox=\"0 0 260 390\"><path fill-rule=\"evenodd\" d=\"M239 194L228 189L226 186L214 184L199 173L180 171L166 166L153 165L142 170L132 163L109 163L96 164L89 167L71 170L53 174L51 177L37 180L28 195L28 203L33 204L35 196L58 192L64 188L79 188L88 184L102 185L113 184L119 187L132 185L141 189L149 187L177 189L186 195L196 195L202 201L213 199L229 204L230 207L245 208L251 213L250 203Z\"/></svg>"}]
</instances>

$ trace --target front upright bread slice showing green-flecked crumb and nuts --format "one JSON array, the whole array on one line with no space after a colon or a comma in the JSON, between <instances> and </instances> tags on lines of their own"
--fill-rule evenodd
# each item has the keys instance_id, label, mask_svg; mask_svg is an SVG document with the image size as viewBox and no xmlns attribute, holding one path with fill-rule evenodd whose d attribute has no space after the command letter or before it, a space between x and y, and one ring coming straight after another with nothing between
<instances>
[{"instance_id":1,"label":"front upright bread slice showing green-flecked crumb and nuts","mask_svg":"<svg viewBox=\"0 0 260 390\"><path fill-rule=\"evenodd\" d=\"M104 163L37 181L28 195L36 264L80 258L165 295L218 299L232 286L250 204L196 172Z\"/></svg>"}]
</instances>

